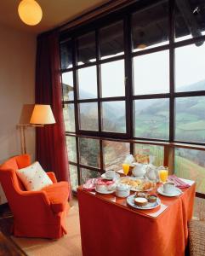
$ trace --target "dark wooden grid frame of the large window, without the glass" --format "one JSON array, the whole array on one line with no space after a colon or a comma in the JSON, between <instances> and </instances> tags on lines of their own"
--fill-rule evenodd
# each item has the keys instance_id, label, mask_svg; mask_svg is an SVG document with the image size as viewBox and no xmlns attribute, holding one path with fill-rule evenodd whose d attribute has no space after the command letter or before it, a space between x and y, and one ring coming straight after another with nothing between
<instances>
[{"instance_id":1,"label":"dark wooden grid frame of the large window, without the glass","mask_svg":"<svg viewBox=\"0 0 205 256\"><path fill-rule=\"evenodd\" d=\"M160 3L161 1L157 1ZM148 3L148 2L147 2ZM157 4L157 3L154 3ZM132 24L131 16L137 9L140 9L142 3L134 3L130 6L117 10L114 15L106 15L99 20L91 21L82 26L71 28L68 31L61 32L60 34L60 44L63 43L66 38L71 38L72 41L72 63L73 67L66 69L60 69L61 73L73 72L73 83L74 83L74 99L72 101L62 101L64 104L74 103L75 106L75 119L76 119L76 132L65 131L65 136L74 136L76 137L77 144L77 162L71 162L73 166L77 166L78 173L78 183L80 184L81 172L80 168L87 168L89 170L97 171L100 173L104 172L104 163L103 163L103 140L113 140L119 142L130 143L130 154L134 154L134 143L145 143L153 145L161 145L164 147L164 164L170 165L170 155L173 154L174 148L193 148L199 150L205 150L205 143L194 143L194 142L185 142L177 141L174 139L174 111L175 111L175 99L179 97L189 97L189 96L205 96L205 90L198 91L185 91L185 92L175 92L174 90L174 51L185 45L194 44L199 41L205 41L205 35L197 38L189 38L183 41L174 42L174 1L168 0L169 4L169 15L168 15L168 44L162 46L153 47L151 49L143 49L140 51L132 50ZM149 8L150 5L145 3L145 9ZM123 38L124 38L124 54L112 56L110 58L100 59L100 42L99 42L99 30L104 26L109 26L112 23L115 23L119 20L123 21ZM77 37L83 36L88 32L95 32L95 53L96 61L92 63L86 63L83 65L77 66ZM133 88L133 58L140 55L147 55L154 52L159 52L162 50L168 49L169 51L169 92L162 94L149 94L149 95L135 95ZM124 60L125 67L125 96L117 97L100 97L100 65L108 63L111 61ZM97 98L95 99L78 99L78 86L77 86L77 70L84 67L96 66L97 68ZM169 99L169 137L168 140L160 140L153 138L143 138L143 137L134 137L134 100L143 100L143 99L157 99L157 98L168 98ZM126 133L114 133L102 131L102 119L101 119L101 102L112 102L112 101L125 101L126 105ZM99 114L99 131L84 131L79 129L79 108L78 104L82 102L97 102L98 103L98 114ZM79 157L79 137L88 137L96 138L100 140L100 168L92 166L84 166L80 164ZM174 161L174 156L171 156L171 160ZM169 163L168 163L169 161ZM172 163L174 164L174 163ZM201 195L204 196L205 195Z\"/></svg>"}]
</instances>

